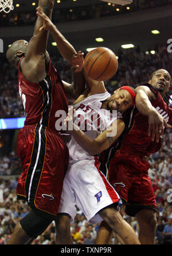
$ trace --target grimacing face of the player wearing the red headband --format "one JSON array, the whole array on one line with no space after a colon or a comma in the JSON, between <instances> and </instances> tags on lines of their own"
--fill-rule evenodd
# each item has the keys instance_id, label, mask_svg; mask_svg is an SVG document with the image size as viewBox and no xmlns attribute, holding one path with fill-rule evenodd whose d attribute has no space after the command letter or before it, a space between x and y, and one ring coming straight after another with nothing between
<instances>
[{"instance_id":1,"label":"grimacing face of the player wearing the red headband","mask_svg":"<svg viewBox=\"0 0 172 256\"><path fill-rule=\"evenodd\" d=\"M132 104L132 97L126 90L116 90L108 99L108 110L126 111Z\"/></svg>"}]
</instances>

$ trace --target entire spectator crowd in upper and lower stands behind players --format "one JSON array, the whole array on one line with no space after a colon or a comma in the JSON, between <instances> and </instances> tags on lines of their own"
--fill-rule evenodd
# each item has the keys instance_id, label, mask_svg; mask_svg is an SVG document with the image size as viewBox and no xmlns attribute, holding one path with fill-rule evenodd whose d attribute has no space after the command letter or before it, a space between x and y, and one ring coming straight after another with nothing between
<instances>
[{"instance_id":1,"label":"entire spectator crowd in upper and lower stands behind players","mask_svg":"<svg viewBox=\"0 0 172 256\"><path fill-rule=\"evenodd\" d=\"M166 51L166 46L155 47L155 54L144 52L139 47L132 50L119 50L119 69L116 75L106 81L108 91L122 85L137 86L148 81L150 74L161 67L172 72L171 54ZM71 81L69 65L60 56L52 58L54 65L58 68L64 81ZM1 62L0 75L0 117L24 116L21 99L19 98L17 86L17 69L10 67L5 60ZM151 155L149 176L154 187L157 199L157 234L156 244L171 243L172 234L172 133L167 131L163 137L163 146L158 153ZM21 173L21 164L15 152L0 158L0 189L3 190L4 201L0 204L0 244L6 244L14 230L15 224L29 212L29 206L24 201L17 201L15 189L18 175ZM12 176L10 176L12 175ZM2 178L3 177L3 178ZM170 190L171 189L171 190ZM127 215L124 218L138 234L138 223L135 217ZM76 244L95 244L96 232L99 225L90 225L83 213L78 209L75 221L71 223L71 234ZM57 232L58 236L58 232ZM168 238L168 239L166 239ZM46 229L44 234L38 236L33 244L54 244L56 241L56 228L54 222ZM120 244L115 234L112 236L112 244Z\"/></svg>"}]
</instances>

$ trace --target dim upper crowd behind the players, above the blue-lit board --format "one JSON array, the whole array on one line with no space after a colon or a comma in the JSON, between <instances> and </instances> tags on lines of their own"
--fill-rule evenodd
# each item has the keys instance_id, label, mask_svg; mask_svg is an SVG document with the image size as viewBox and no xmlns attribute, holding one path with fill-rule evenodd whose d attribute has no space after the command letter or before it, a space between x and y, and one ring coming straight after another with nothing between
<instances>
[{"instance_id":1,"label":"dim upper crowd behind the players, above the blue-lit board","mask_svg":"<svg viewBox=\"0 0 172 256\"><path fill-rule=\"evenodd\" d=\"M151 54L151 50L154 50L155 54ZM148 81L154 70L162 67L172 74L172 55L167 52L166 45L158 45L148 51L140 49L139 46L130 50L120 48L115 54L119 58L118 71L111 80L105 81L110 93L123 85L136 87L143 84ZM69 63L58 55L58 51L51 59L61 79L71 83ZM3 58L0 59L0 68L0 118L23 117L24 110L18 93L18 70Z\"/></svg>"}]
</instances>

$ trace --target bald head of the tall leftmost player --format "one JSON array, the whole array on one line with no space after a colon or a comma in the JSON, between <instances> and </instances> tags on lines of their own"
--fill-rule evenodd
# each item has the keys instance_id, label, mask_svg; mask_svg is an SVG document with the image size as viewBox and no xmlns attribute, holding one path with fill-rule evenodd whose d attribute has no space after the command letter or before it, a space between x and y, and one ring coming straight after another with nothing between
<instances>
[{"instance_id":1,"label":"bald head of the tall leftmost player","mask_svg":"<svg viewBox=\"0 0 172 256\"><path fill-rule=\"evenodd\" d=\"M6 52L6 58L13 66L17 66L19 59L24 56L28 48L25 40L15 41Z\"/></svg>"}]
</instances>

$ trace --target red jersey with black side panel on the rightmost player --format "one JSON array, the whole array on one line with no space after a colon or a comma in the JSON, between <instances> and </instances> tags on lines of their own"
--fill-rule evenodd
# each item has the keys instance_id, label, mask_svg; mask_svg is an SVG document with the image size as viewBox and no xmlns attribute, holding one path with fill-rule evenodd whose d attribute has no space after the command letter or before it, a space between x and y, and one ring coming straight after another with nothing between
<instances>
[{"instance_id":1,"label":"red jersey with black side panel on the rightmost player","mask_svg":"<svg viewBox=\"0 0 172 256\"><path fill-rule=\"evenodd\" d=\"M146 84L146 86L156 96L156 99L151 104L165 118L166 122L170 123L172 121L172 109L167 106L156 89L149 84ZM110 148L100 155L100 168L104 174L107 174L110 161L115 157L118 150L143 157L150 156L151 153L155 153L161 148L161 140L157 143L156 141L151 141L151 137L148 137L148 117L140 114L136 106L123 112L123 120L126 125L123 133Z\"/></svg>"}]
</instances>

